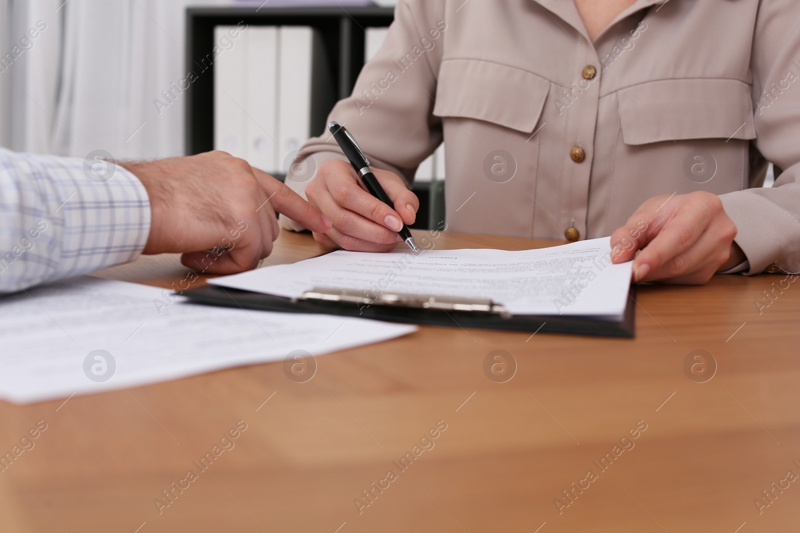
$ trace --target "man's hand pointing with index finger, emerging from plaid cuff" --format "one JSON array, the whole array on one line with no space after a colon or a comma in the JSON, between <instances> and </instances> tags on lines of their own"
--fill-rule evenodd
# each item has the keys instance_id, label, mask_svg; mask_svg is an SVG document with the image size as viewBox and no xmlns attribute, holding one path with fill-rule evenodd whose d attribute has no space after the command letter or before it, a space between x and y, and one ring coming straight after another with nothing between
<instances>
[{"instance_id":1,"label":"man's hand pointing with index finger, emerging from plaid cuff","mask_svg":"<svg viewBox=\"0 0 800 533\"><path fill-rule=\"evenodd\" d=\"M183 265L202 272L255 268L278 238L276 210L308 229L330 229L330 221L297 193L225 152L123 166L150 197L150 236L143 253L183 253ZM218 253L210 255L208 249Z\"/></svg>"}]
</instances>

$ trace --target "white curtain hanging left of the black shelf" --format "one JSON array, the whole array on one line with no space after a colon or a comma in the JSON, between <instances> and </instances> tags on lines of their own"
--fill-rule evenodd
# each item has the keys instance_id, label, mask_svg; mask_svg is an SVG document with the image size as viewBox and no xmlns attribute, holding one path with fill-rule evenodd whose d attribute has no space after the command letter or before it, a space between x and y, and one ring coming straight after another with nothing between
<instances>
[{"instance_id":1,"label":"white curtain hanging left of the black shelf","mask_svg":"<svg viewBox=\"0 0 800 533\"><path fill-rule=\"evenodd\" d=\"M186 78L186 6L229 3L0 0L0 144L79 157L181 155L185 98L161 109L154 101Z\"/></svg>"}]
</instances>

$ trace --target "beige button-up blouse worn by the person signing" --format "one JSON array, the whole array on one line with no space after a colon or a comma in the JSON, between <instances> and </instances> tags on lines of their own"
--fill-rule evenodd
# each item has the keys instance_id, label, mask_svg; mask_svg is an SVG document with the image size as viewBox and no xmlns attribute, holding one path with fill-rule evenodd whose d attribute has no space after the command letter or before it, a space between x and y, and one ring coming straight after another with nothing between
<instances>
[{"instance_id":1,"label":"beige button-up blouse worn by the person signing","mask_svg":"<svg viewBox=\"0 0 800 533\"><path fill-rule=\"evenodd\" d=\"M573 0L400 0L330 120L409 183L444 141L450 231L603 237L650 197L707 190L739 269L798 272L798 78L798 0L638 0L594 43ZM303 151L306 169L342 158L330 135Z\"/></svg>"}]
</instances>

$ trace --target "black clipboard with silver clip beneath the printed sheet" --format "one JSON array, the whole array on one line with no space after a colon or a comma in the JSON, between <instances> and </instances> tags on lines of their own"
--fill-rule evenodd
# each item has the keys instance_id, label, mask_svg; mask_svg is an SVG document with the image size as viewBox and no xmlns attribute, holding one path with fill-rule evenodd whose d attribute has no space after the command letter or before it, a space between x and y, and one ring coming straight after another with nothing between
<instances>
[{"instance_id":1,"label":"black clipboard with silver clip beneath the printed sheet","mask_svg":"<svg viewBox=\"0 0 800 533\"><path fill-rule=\"evenodd\" d=\"M597 316L512 315L502 305L491 300L386 292L370 298L365 291L336 288L314 288L306 291L302 298L292 299L219 285L205 285L184 291L182 296L187 296L191 302L197 304L354 316L403 324L624 338L635 336L635 284L630 285L622 320L606 320Z\"/></svg>"}]
</instances>

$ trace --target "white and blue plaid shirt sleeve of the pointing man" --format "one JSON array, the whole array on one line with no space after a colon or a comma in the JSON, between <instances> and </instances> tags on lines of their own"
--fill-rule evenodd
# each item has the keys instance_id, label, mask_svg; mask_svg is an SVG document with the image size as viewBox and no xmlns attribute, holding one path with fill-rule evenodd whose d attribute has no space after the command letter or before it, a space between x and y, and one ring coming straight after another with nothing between
<instances>
[{"instance_id":1,"label":"white and blue plaid shirt sleeve of the pointing man","mask_svg":"<svg viewBox=\"0 0 800 533\"><path fill-rule=\"evenodd\" d=\"M101 159L0 149L0 293L133 261L150 233L142 182Z\"/></svg>"}]
</instances>

